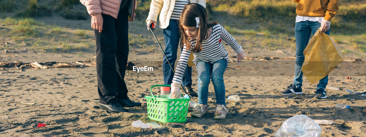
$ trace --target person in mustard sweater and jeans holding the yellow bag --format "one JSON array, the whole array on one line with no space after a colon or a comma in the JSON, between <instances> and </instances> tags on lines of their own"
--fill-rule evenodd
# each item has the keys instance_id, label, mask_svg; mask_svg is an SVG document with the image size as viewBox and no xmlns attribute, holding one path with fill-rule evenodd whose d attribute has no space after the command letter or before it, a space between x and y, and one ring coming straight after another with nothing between
<instances>
[{"instance_id":1,"label":"person in mustard sweater and jeans holding the yellow bag","mask_svg":"<svg viewBox=\"0 0 366 137\"><path fill-rule=\"evenodd\" d=\"M304 54L307 44L309 43L311 33L320 28L321 32L329 35L330 21L338 11L339 0L294 0L296 6L296 62L294 82L288 86L288 89L281 91L282 95L302 94L302 71L301 67L304 62ZM310 33L311 32L311 33ZM326 98L325 87L328 84L328 75L320 79L315 91L315 98Z\"/></svg>"}]
</instances>

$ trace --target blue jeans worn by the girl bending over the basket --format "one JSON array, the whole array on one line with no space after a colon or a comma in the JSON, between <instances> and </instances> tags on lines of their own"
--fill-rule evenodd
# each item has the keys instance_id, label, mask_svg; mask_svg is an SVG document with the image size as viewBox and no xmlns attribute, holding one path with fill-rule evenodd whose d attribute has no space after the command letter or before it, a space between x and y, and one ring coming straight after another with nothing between
<instances>
[{"instance_id":1,"label":"blue jeans worn by the girl bending over the basket","mask_svg":"<svg viewBox=\"0 0 366 137\"><path fill-rule=\"evenodd\" d=\"M216 104L226 105L225 103L225 85L224 72L227 61L221 59L215 63L208 63L204 61L197 62L198 71L198 104L207 105L208 85L210 79L216 95Z\"/></svg>"}]
</instances>

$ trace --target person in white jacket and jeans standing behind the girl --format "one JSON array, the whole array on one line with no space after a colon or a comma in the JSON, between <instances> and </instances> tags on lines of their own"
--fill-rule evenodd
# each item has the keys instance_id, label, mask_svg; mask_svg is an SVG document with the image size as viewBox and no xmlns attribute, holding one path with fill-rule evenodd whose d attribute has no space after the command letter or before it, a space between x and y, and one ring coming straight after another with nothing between
<instances>
[{"instance_id":1,"label":"person in white jacket and jeans standing behind the girl","mask_svg":"<svg viewBox=\"0 0 366 137\"><path fill-rule=\"evenodd\" d=\"M178 27L178 19L184 6L188 3L197 3L206 8L205 0L152 0L150 4L149 16L146 19L147 30L149 26L153 24L156 26L156 21L159 16L159 27L163 28L163 35L165 40L165 55L167 56L171 66L175 66L175 60L177 59L177 50L179 45L180 30ZM183 46L181 46L181 51ZM163 77L164 85L170 85L172 83L174 73L171 70L166 58L163 57ZM183 90L185 90L192 97L198 97L192 88L191 78L192 68L188 67L184 71L182 78Z\"/></svg>"}]
</instances>

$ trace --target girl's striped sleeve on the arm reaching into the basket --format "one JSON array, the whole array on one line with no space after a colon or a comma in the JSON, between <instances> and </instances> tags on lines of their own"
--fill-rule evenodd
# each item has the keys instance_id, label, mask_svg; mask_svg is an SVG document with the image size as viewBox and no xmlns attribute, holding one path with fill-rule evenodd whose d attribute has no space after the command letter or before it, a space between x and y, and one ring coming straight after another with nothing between
<instances>
[{"instance_id":1,"label":"girl's striped sleeve on the arm reaching into the basket","mask_svg":"<svg viewBox=\"0 0 366 137\"><path fill-rule=\"evenodd\" d=\"M184 44L183 46L183 51L182 54L180 54L180 58L178 60L177 63L177 67L175 68L175 73L174 73L174 77L173 77L173 81L174 83L182 83L182 77L184 74L184 71L186 70L187 64L188 64L188 58L189 55L191 54L191 50L187 50L187 46L186 44Z\"/></svg>"}]
</instances>

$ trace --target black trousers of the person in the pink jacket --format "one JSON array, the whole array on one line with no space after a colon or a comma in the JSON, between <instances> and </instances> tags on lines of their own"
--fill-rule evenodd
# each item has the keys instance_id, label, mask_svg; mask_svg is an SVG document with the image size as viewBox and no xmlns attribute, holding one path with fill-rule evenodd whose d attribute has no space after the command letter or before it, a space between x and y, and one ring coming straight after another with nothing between
<instances>
[{"instance_id":1,"label":"black trousers of the person in the pink jacket","mask_svg":"<svg viewBox=\"0 0 366 137\"><path fill-rule=\"evenodd\" d=\"M98 94L99 102L109 105L128 98L124 81L128 57L128 11L124 7L120 9L117 19L105 14L102 17L102 32L94 30Z\"/></svg>"}]
</instances>

